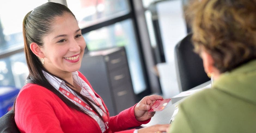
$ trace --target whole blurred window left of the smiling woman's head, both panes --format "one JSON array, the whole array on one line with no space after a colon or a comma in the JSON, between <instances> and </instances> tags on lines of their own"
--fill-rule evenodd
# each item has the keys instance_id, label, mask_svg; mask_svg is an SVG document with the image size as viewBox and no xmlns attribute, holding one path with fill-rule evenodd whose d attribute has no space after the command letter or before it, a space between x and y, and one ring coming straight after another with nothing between
<instances>
[{"instance_id":1,"label":"whole blurred window left of the smiling woman's head, both panes","mask_svg":"<svg viewBox=\"0 0 256 133\"><path fill-rule=\"evenodd\" d=\"M47 0L0 1L0 85L21 88L28 76L24 52L10 54L16 49L23 51L22 22L33 8ZM3 56L4 53L10 56Z\"/></svg>"}]
</instances>

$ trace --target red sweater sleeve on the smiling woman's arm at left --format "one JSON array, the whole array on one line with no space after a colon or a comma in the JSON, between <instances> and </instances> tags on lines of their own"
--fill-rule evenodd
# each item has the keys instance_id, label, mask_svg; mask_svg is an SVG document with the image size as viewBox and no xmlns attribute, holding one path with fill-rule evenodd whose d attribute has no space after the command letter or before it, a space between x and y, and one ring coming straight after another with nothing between
<instances>
[{"instance_id":1,"label":"red sweater sleeve on the smiling woman's arm at left","mask_svg":"<svg viewBox=\"0 0 256 133\"><path fill-rule=\"evenodd\" d=\"M26 85L15 106L15 122L21 132L63 132L51 105L53 93L39 85Z\"/></svg>"}]
</instances>

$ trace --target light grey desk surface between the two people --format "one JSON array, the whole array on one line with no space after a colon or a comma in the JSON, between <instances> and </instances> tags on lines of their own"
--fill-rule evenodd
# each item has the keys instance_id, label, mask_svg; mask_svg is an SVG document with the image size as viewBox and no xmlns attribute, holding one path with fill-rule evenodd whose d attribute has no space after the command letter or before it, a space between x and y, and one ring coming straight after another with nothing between
<instances>
[{"instance_id":1,"label":"light grey desk surface between the two people","mask_svg":"<svg viewBox=\"0 0 256 133\"><path fill-rule=\"evenodd\" d=\"M209 84L211 84L211 81L205 82L205 83L198 85L192 89L200 89ZM141 126L148 127L148 126L152 126L152 125L156 125L156 124L169 124L172 114L175 110L175 105L179 104L182 101L183 101L183 99L179 100L178 102L173 103L172 105L167 105L167 107L163 111L156 112L156 114L154 115L154 117L151 118L151 121L148 124L143 124ZM169 103L169 104L171 104L171 103Z\"/></svg>"}]
</instances>

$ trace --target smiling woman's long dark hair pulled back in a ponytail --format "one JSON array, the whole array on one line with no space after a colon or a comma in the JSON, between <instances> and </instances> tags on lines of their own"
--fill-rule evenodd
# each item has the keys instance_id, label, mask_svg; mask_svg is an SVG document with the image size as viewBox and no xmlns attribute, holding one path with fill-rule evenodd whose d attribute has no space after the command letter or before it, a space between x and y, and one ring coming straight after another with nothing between
<instances>
[{"instance_id":1,"label":"smiling woman's long dark hair pulled back in a ponytail","mask_svg":"<svg viewBox=\"0 0 256 133\"><path fill-rule=\"evenodd\" d=\"M30 11L23 20L23 38L25 44L25 55L26 61L29 68L29 75L27 78L27 83L38 84L42 87L45 87L56 94L63 102L65 102L69 107L72 107L80 112L88 114L84 112L83 109L75 105L69 99L65 98L58 90L56 90L50 82L45 78L42 71L48 72L44 66L42 65L39 58L31 51L30 44L35 42L39 46L43 46L43 38L47 34L51 32L51 27L54 24L54 20L57 16L63 16L65 13L69 13L74 16L75 15L66 7L65 5L54 3L54 2L47 2L41 6L36 7L33 11ZM53 75L53 74L51 74ZM57 77L56 75L53 75ZM57 77L62 79L60 77ZM65 81L64 79L62 79ZM70 83L66 82L66 85L69 87L74 87ZM74 91L77 95L79 95L90 107L97 113L97 115L102 119L99 112L95 109L92 105L94 104L92 100L87 97L84 97L77 91Z\"/></svg>"}]
</instances>

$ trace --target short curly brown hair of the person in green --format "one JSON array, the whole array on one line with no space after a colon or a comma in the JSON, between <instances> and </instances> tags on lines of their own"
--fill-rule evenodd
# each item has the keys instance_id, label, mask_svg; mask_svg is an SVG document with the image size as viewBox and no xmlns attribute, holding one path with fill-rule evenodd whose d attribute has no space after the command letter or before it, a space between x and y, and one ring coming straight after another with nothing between
<instances>
[{"instance_id":1,"label":"short curly brown hair of the person in green","mask_svg":"<svg viewBox=\"0 0 256 133\"><path fill-rule=\"evenodd\" d=\"M205 49L221 73L256 59L256 0L192 0L185 17L195 51Z\"/></svg>"}]
</instances>

